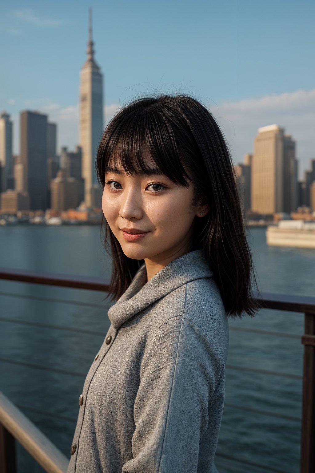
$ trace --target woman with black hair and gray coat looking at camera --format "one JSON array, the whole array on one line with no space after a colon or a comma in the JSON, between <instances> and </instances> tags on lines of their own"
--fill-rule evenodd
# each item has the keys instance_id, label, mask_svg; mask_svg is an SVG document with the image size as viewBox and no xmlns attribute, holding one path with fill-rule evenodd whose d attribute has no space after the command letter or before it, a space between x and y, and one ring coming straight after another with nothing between
<instances>
[{"instance_id":1,"label":"woman with black hair and gray coat looking at camera","mask_svg":"<svg viewBox=\"0 0 315 473\"><path fill-rule=\"evenodd\" d=\"M217 472L227 315L257 309L227 145L194 98L140 98L107 126L96 166L116 303L68 473Z\"/></svg>"}]
</instances>

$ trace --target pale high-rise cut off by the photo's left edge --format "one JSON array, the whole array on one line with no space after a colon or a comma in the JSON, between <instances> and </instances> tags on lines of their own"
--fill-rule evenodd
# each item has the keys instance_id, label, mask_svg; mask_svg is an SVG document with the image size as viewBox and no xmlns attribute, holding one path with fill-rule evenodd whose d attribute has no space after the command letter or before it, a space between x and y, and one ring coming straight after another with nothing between
<instances>
[{"instance_id":1,"label":"pale high-rise cut off by the photo's left edge","mask_svg":"<svg viewBox=\"0 0 315 473\"><path fill-rule=\"evenodd\" d=\"M12 178L12 140L13 140L13 123L10 115L6 112L0 114L0 192L12 188L9 183Z\"/></svg>"}]
</instances>

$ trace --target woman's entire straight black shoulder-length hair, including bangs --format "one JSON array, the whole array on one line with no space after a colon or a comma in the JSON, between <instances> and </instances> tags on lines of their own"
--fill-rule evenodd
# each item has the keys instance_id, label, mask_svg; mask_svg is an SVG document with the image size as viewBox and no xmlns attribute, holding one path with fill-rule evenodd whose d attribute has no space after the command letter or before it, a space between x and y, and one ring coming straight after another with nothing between
<instances>
[{"instance_id":1,"label":"woman's entire straight black shoulder-length hair, including bangs","mask_svg":"<svg viewBox=\"0 0 315 473\"><path fill-rule=\"evenodd\" d=\"M137 98L122 108L103 132L96 173L102 189L105 167L119 164L129 175L145 171L147 149L153 162L174 183L192 181L196 205L200 198L210 210L195 218L193 249L202 249L213 271L227 315L255 315L251 276L257 282L247 243L240 198L230 152L213 115L187 95ZM104 215L102 215L102 224ZM144 260L128 258L105 220L105 250L112 258L108 291L118 299ZM258 290L258 288L257 288ZM259 291L258 291L259 292Z\"/></svg>"}]
</instances>

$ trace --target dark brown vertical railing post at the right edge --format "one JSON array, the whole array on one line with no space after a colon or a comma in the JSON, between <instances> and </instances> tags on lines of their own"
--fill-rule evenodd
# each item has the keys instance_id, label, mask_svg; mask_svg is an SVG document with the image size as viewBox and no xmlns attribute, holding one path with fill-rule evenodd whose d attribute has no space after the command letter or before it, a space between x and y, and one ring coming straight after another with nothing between
<instances>
[{"instance_id":1,"label":"dark brown vertical railing post at the right edge","mask_svg":"<svg viewBox=\"0 0 315 473\"><path fill-rule=\"evenodd\" d=\"M306 313L304 320L300 473L312 473L315 472L315 315Z\"/></svg>"}]
</instances>

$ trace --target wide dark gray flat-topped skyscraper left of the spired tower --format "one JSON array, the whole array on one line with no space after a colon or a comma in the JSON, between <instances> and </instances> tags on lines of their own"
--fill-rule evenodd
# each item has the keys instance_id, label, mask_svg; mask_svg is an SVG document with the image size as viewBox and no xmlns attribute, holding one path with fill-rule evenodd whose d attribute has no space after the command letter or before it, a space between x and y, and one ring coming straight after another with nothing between
<instances>
[{"instance_id":1,"label":"wide dark gray flat-topped skyscraper left of the spired tower","mask_svg":"<svg viewBox=\"0 0 315 473\"><path fill-rule=\"evenodd\" d=\"M26 110L20 114L20 160L24 170L24 191L31 210L47 209L47 115Z\"/></svg>"}]
</instances>

